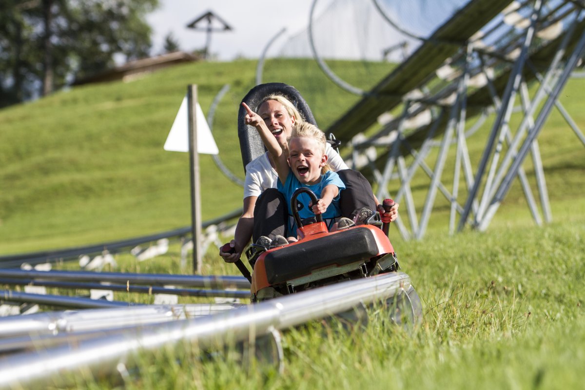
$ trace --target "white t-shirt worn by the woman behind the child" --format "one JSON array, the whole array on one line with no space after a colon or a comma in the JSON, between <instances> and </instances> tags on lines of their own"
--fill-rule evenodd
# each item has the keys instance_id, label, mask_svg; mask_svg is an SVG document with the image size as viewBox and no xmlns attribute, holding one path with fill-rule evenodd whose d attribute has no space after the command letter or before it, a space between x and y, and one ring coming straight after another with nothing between
<instances>
[{"instance_id":1,"label":"white t-shirt worn by the woman behind the child","mask_svg":"<svg viewBox=\"0 0 585 390\"><path fill-rule=\"evenodd\" d=\"M325 144L327 163L335 172L347 169L343 158L333 150L329 143ZM246 165L246 180L244 181L244 199L248 196L260 196L268 188L276 188L278 174L270 165L268 152L254 158Z\"/></svg>"}]
</instances>

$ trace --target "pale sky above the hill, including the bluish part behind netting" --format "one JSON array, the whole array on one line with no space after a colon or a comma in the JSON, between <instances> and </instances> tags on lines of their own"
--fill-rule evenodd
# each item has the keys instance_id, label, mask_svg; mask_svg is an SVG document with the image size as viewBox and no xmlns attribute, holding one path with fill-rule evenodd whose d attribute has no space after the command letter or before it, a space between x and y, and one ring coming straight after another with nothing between
<instances>
[{"instance_id":1,"label":"pale sky above the hill, including the bluish part behind netting","mask_svg":"<svg viewBox=\"0 0 585 390\"><path fill-rule=\"evenodd\" d=\"M426 36L469 0L380 0L384 13L405 30ZM147 16L153 28L152 54L161 54L164 39L173 33L180 49L205 47L207 32L187 28L193 20L212 11L232 27L212 32L211 53L219 60L259 58L277 33L267 56L312 57L307 26L314 0L160 0L160 8ZM335 6L331 7L331 4ZM326 11L326 12L324 12ZM376 10L371 0L319 0L314 12L315 45L326 58L381 60L384 49L408 43L412 52L418 42L398 32ZM216 22L217 26L221 26ZM214 25L215 26L215 25ZM207 21L199 23L207 27ZM392 60L404 53L394 50Z\"/></svg>"}]
</instances>

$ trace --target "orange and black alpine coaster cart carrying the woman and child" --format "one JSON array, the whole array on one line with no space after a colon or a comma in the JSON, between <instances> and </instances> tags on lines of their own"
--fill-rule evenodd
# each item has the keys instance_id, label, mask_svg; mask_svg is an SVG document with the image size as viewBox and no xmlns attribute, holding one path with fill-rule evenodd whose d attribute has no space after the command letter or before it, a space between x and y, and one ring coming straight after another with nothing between
<instances>
[{"instance_id":1,"label":"orange and black alpine coaster cart carrying the woman and child","mask_svg":"<svg viewBox=\"0 0 585 390\"><path fill-rule=\"evenodd\" d=\"M316 125L311 109L297 89L282 83L260 84L243 98L256 111L264 96L280 94L288 98L307 122ZM243 165L263 154L266 149L254 127L246 125L245 109L240 105L238 136ZM313 202L316 196L308 188L298 189L291 199L293 216L300 228L298 241L266 250L256 244L246 250L252 275L241 260L236 262L242 274L252 284L251 301L261 302L278 296L294 294L359 278L376 277L388 272L399 272L400 265L390 240L388 223L382 223L375 212L363 225L329 232L321 215L301 221L297 210L297 196L307 192ZM391 199L384 208L393 206ZM225 249L224 249L225 250ZM412 285L402 287L402 293L387 299L393 308L391 318L397 323L419 323L422 320L421 302Z\"/></svg>"}]
</instances>

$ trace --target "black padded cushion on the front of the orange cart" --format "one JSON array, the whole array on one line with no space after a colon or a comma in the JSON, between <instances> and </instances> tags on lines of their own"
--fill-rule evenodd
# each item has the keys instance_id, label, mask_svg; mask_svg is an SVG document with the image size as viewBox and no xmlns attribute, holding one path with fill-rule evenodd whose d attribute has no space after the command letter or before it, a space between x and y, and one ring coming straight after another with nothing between
<instances>
[{"instance_id":1,"label":"black padded cushion on the front of the orange cart","mask_svg":"<svg viewBox=\"0 0 585 390\"><path fill-rule=\"evenodd\" d=\"M318 268L367 260L378 253L374 234L369 229L356 227L267 253L264 267L268 282L275 285L308 275Z\"/></svg>"}]
</instances>

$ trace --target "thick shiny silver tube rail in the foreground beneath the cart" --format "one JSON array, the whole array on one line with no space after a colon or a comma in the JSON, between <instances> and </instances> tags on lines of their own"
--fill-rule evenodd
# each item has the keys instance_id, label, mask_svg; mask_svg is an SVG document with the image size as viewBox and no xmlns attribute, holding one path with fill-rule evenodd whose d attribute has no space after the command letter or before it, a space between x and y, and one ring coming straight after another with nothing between
<instances>
[{"instance_id":1,"label":"thick shiny silver tube rail in the foreground beneath the cart","mask_svg":"<svg viewBox=\"0 0 585 390\"><path fill-rule=\"evenodd\" d=\"M208 348L230 341L242 341L285 329L333 313L344 312L360 302L387 299L411 286L407 274L396 272L342 282L243 308L229 310L195 320L130 328L129 332L110 337L82 340L75 345L12 354L0 362L0 388L47 384L51 378L59 384L71 380L63 375L88 368L94 375L123 372L133 364L138 351L185 341L196 341Z\"/></svg>"}]
</instances>

